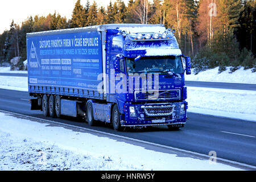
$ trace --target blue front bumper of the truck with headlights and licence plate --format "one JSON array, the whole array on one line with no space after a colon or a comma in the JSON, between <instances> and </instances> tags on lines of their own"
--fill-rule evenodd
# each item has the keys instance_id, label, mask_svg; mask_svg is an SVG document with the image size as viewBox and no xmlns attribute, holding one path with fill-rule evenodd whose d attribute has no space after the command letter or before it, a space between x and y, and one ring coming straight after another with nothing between
<instances>
[{"instance_id":1,"label":"blue front bumper of the truck with headlights and licence plate","mask_svg":"<svg viewBox=\"0 0 256 182\"><path fill-rule=\"evenodd\" d=\"M181 110L181 105L185 105ZM130 116L130 106L135 108L136 115ZM160 126L184 125L187 119L187 102L125 104L125 116L121 118L121 126Z\"/></svg>"}]
</instances>

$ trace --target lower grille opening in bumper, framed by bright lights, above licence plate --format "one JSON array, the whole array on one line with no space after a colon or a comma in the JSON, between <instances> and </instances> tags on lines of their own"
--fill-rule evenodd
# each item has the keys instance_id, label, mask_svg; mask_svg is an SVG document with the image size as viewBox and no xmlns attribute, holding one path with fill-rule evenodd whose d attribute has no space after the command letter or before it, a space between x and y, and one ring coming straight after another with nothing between
<instances>
[{"instance_id":1,"label":"lower grille opening in bumper, framed by bright lights, above licence plate","mask_svg":"<svg viewBox=\"0 0 256 182\"><path fill-rule=\"evenodd\" d=\"M141 106L147 116L172 115L175 105L168 106Z\"/></svg>"}]
</instances>

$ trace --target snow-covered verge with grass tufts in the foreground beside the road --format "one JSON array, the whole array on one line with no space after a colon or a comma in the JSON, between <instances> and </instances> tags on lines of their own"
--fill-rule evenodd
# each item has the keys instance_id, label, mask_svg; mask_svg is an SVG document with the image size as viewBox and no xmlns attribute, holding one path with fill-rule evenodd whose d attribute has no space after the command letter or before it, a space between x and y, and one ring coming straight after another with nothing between
<instances>
[{"instance_id":1,"label":"snow-covered verge with grass tufts in the foreground beside the road","mask_svg":"<svg viewBox=\"0 0 256 182\"><path fill-rule=\"evenodd\" d=\"M240 170L0 113L0 170ZM136 151L136 152L134 152ZM131 155L132 154L132 155Z\"/></svg>"}]
</instances>

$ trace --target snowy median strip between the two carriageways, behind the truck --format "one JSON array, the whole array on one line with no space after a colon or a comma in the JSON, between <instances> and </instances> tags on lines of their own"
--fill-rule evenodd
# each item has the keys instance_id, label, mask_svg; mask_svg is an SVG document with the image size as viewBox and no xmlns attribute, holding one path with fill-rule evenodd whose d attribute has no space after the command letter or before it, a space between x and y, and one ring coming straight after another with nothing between
<instances>
[{"instance_id":1,"label":"snowy median strip between the two carriageways, behind the truck","mask_svg":"<svg viewBox=\"0 0 256 182\"><path fill-rule=\"evenodd\" d=\"M0 88L28 91L27 77L0 76ZM256 91L188 86L188 112L256 121Z\"/></svg>"}]
</instances>

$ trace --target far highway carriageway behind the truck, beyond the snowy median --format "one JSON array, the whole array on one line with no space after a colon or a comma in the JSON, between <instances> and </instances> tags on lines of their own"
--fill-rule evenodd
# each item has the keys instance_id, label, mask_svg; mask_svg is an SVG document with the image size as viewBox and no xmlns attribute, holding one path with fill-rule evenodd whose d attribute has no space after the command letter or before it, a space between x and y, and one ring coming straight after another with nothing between
<instances>
[{"instance_id":1,"label":"far highway carriageway behind the truck, beyond the snowy median","mask_svg":"<svg viewBox=\"0 0 256 182\"><path fill-rule=\"evenodd\" d=\"M27 77L27 73L0 73L0 76ZM237 83L209 82L209 81L185 81L185 85L208 87L208 88L222 88L222 89L256 90L256 84L237 84Z\"/></svg>"}]
</instances>

